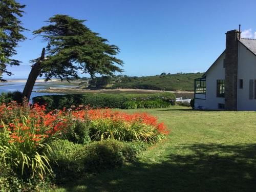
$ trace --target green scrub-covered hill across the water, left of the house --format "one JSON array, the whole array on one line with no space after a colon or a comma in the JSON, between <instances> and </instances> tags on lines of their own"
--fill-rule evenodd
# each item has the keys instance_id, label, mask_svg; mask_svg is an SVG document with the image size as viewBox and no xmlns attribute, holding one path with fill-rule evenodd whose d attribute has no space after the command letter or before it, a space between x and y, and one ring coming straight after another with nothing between
<instances>
[{"instance_id":1,"label":"green scrub-covered hill across the water, left of the house","mask_svg":"<svg viewBox=\"0 0 256 192\"><path fill-rule=\"evenodd\" d=\"M150 89L165 91L194 91L194 79L203 73L177 73L146 77L123 77L111 89Z\"/></svg>"}]
</instances>

